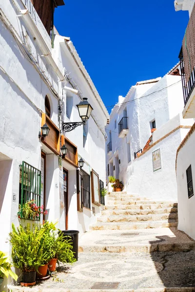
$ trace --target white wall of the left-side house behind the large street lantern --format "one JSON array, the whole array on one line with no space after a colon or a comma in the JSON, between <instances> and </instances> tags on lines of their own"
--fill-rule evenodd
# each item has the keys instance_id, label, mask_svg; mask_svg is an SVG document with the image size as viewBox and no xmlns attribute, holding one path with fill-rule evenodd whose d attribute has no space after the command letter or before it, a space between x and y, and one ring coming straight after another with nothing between
<instances>
[{"instance_id":1,"label":"white wall of the left-side house behind the large street lantern","mask_svg":"<svg viewBox=\"0 0 195 292\"><path fill-rule=\"evenodd\" d=\"M71 80L74 81L74 84L77 85L77 89L82 92L83 96L88 98L88 102L94 109L92 115L98 120L98 124L95 122L92 116L88 120L88 134L84 147L83 126L79 126L73 131L65 133L65 136L76 146L78 146L78 159L82 157L85 161L83 170L90 175L92 169L94 169L98 173L99 179L102 180L105 185L105 134L102 133L100 128L104 129L107 123L107 117L100 108L100 105L95 98L93 91L90 89L85 78L83 77L83 74L80 72L78 64L75 62L73 55L71 55L64 37L56 36L54 43L55 58L59 68L61 68L61 70L66 68L67 73L70 73L69 76ZM66 86L72 87L70 83L67 83ZM81 121L78 115L78 108L76 107L76 105L81 101L80 97L74 93L71 93L70 91L63 92L63 121ZM69 100L68 109L66 108L67 98ZM67 116L67 113L69 117ZM91 207L95 208L95 214L93 214L92 210L87 210L85 208L83 208L83 212L77 211L76 169L65 162L63 162L63 166L69 170L68 228L79 230L80 234L82 234L83 232L89 230L89 226L96 221L96 217L100 215L100 207L95 204L91 204Z\"/></svg>"}]
</instances>

